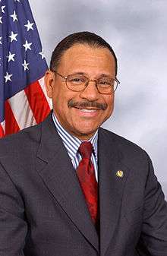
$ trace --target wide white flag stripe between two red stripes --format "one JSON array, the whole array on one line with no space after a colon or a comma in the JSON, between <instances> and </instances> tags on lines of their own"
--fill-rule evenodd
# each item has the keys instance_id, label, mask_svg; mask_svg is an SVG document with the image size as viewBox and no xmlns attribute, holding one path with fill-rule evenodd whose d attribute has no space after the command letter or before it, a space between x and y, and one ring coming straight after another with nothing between
<instances>
[{"instance_id":1,"label":"wide white flag stripe between two red stripes","mask_svg":"<svg viewBox=\"0 0 167 256\"><path fill-rule=\"evenodd\" d=\"M29 102L27 100L27 95L24 90L21 90L16 95L12 96L8 103L14 114L14 118L20 130L27 128L31 125L36 125L36 121L33 116L33 112L30 108Z\"/></svg>"}]
</instances>

